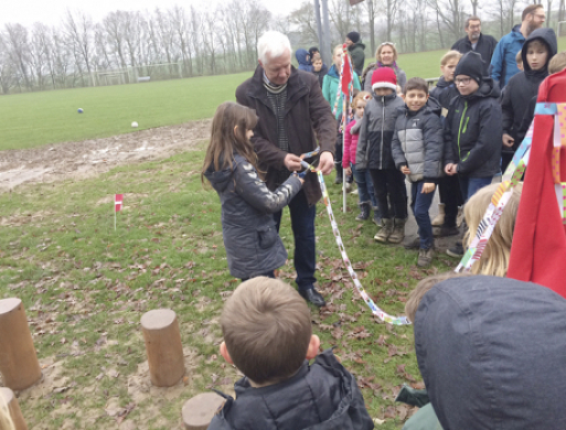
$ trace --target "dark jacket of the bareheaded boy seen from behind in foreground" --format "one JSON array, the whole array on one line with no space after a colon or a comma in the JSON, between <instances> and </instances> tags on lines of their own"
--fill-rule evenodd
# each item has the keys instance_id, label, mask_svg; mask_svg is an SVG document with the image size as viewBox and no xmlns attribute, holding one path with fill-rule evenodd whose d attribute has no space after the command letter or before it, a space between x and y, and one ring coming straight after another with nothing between
<instances>
[{"instance_id":1,"label":"dark jacket of the bareheaded boy seen from behind in foreground","mask_svg":"<svg viewBox=\"0 0 566 430\"><path fill-rule=\"evenodd\" d=\"M235 384L236 399L226 396L209 430L371 430L355 378L332 350L312 365L305 362L291 378L253 388L247 378Z\"/></svg>"}]
</instances>

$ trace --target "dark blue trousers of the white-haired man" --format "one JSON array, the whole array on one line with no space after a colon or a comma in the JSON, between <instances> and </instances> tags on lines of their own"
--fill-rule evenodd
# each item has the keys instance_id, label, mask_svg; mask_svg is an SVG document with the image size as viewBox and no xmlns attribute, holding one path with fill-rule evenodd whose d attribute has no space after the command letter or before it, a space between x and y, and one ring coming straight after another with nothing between
<instances>
[{"instance_id":1,"label":"dark blue trousers of the white-haired man","mask_svg":"<svg viewBox=\"0 0 566 430\"><path fill-rule=\"evenodd\" d=\"M314 241L314 217L317 216L317 205L309 206L305 191L299 193L289 203L291 214L291 228L295 237L295 270L297 270L297 286L300 290L312 288L317 278L317 255ZM274 214L277 224L277 232L281 225L282 211Z\"/></svg>"}]
</instances>

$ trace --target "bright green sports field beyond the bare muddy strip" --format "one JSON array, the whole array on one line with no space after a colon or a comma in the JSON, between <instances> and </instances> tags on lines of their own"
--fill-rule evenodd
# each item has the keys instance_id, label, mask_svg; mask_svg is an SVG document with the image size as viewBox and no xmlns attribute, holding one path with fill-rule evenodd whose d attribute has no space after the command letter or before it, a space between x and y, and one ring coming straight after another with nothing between
<instances>
[{"instance_id":1,"label":"bright green sports field beyond the bare muddy strip","mask_svg":"<svg viewBox=\"0 0 566 430\"><path fill-rule=\"evenodd\" d=\"M566 36L559 49L566 49ZM409 78L437 77L444 53L404 54L398 64ZM210 118L250 74L2 96L0 150L126 133L132 121L146 129Z\"/></svg>"}]
</instances>

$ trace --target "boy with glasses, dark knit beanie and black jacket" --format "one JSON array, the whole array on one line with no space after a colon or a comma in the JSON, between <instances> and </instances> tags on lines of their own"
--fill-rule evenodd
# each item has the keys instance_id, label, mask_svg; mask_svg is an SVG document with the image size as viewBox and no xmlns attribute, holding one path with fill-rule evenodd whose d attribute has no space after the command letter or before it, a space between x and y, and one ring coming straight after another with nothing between
<instances>
[{"instance_id":1,"label":"boy with glasses, dark knit beanie and black jacket","mask_svg":"<svg viewBox=\"0 0 566 430\"><path fill-rule=\"evenodd\" d=\"M455 71L460 95L450 103L445 121L445 172L458 174L464 202L500 172L501 92L492 78L482 76L482 71L480 54L469 52L461 57ZM461 241L447 252L462 256Z\"/></svg>"}]
</instances>

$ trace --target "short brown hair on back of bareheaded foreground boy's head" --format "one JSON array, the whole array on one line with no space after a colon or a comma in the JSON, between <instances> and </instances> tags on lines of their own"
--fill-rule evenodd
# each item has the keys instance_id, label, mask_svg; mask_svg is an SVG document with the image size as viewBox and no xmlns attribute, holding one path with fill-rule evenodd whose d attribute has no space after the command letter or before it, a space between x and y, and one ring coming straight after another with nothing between
<instances>
[{"instance_id":1,"label":"short brown hair on back of bareheaded foreground boy's head","mask_svg":"<svg viewBox=\"0 0 566 430\"><path fill-rule=\"evenodd\" d=\"M236 367L256 384L297 373L307 356L310 311L287 283L266 277L243 282L221 315L226 348Z\"/></svg>"}]
</instances>

